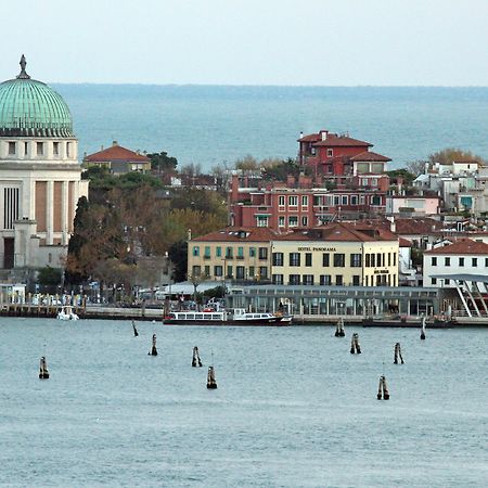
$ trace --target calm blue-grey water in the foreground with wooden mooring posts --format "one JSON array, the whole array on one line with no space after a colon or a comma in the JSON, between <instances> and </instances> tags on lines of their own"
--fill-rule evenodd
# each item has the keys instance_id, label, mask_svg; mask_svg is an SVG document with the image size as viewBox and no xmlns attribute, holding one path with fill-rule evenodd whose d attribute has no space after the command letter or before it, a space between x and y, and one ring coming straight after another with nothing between
<instances>
[{"instance_id":1,"label":"calm blue-grey water in the foreground with wooden mooring posts","mask_svg":"<svg viewBox=\"0 0 488 488\"><path fill-rule=\"evenodd\" d=\"M1 319L1 486L488 484L486 330L138 328Z\"/></svg>"}]
</instances>

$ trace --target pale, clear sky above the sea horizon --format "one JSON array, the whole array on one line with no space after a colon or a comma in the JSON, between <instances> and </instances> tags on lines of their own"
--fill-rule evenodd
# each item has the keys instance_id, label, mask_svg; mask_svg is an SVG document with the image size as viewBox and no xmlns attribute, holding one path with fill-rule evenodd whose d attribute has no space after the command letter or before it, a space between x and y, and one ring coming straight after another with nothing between
<instances>
[{"instance_id":1,"label":"pale, clear sky above the sea horizon","mask_svg":"<svg viewBox=\"0 0 488 488\"><path fill-rule=\"evenodd\" d=\"M1 80L488 86L488 0L3 2Z\"/></svg>"}]
</instances>

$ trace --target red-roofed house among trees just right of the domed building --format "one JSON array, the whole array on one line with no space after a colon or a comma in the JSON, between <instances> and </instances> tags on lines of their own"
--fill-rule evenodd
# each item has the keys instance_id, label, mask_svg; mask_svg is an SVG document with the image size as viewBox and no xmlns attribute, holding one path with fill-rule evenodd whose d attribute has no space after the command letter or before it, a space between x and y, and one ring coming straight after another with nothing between
<instances>
[{"instance_id":1,"label":"red-roofed house among trees just right of the domed building","mask_svg":"<svg viewBox=\"0 0 488 488\"><path fill-rule=\"evenodd\" d=\"M124 175L130 171L149 172L151 170L151 159L147 156L123 147L118 145L117 141L114 141L111 147L85 156L82 164L85 168L105 167L113 175Z\"/></svg>"}]
</instances>

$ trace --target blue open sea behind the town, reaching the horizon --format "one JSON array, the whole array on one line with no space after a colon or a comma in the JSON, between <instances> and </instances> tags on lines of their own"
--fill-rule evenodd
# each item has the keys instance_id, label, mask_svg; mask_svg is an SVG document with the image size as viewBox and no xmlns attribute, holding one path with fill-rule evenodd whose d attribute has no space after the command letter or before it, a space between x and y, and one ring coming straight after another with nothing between
<instances>
[{"instance_id":1,"label":"blue open sea behind the town, reaching the horizon","mask_svg":"<svg viewBox=\"0 0 488 488\"><path fill-rule=\"evenodd\" d=\"M374 144L390 169L460 147L488 159L488 88L53 85L80 158L117 141L209 171L247 155L296 157L300 131Z\"/></svg>"}]
</instances>

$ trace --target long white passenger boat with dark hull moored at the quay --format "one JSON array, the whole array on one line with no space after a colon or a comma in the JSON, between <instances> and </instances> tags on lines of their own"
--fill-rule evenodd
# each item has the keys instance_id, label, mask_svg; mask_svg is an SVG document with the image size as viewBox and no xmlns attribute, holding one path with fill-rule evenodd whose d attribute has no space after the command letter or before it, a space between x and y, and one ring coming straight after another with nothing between
<instances>
[{"instance_id":1,"label":"long white passenger boat with dark hull moored at the quay","mask_svg":"<svg viewBox=\"0 0 488 488\"><path fill-rule=\"evenodd\" d=\"M166 325L290 325L292 316L271 312L232 310L171 311L163 318Z\"/></svg>"}]
</instances>

